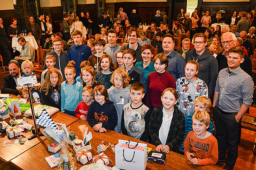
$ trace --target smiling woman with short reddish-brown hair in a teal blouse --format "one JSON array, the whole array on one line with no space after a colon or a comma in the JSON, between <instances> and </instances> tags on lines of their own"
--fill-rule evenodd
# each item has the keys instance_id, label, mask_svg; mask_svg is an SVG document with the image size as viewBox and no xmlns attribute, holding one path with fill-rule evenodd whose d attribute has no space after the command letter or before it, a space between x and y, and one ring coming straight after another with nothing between
<instances>
[{"instance_id":1,"label":"smiling woman with short reddish-brown hair in a teal blouse","mask_svg":"<svg viewBox=\"0 0 256 170\"><path fill-rule=\"evenodd\" d=\"M144 77L145 77L145 90L147 92L147 77L148 74L155 71L154 64L151 61L151 59L154 57L155 48L153 45L145 44L141 48L141 57L142 61L137 62L135 64L136 67L138 67L140 70L144 71Z\"/></svg>"}]
</instances>

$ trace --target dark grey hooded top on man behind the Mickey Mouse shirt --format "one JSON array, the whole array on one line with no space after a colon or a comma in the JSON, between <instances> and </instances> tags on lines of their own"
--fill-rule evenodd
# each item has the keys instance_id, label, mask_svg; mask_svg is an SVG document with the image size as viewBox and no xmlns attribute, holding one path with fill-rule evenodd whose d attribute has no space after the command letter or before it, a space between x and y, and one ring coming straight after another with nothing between
<instances>
[{"instance_id":1,"label":"dark grey hooded top on man behind the Mickey Mouse shirt","mask_svg":"<svg viewBox=\"0 0 256 170\"><path fill-rule=\"evenodd\" d=\"M203 80L208 86L208 97L214 93L216 80L218 76L218 62L212 55L210 50L206 47L201 56L196 54L196 50L193 49L186 54L186 62L191 60L197 61L199 65L198 78Z\"/></svg>"}]
</instances>

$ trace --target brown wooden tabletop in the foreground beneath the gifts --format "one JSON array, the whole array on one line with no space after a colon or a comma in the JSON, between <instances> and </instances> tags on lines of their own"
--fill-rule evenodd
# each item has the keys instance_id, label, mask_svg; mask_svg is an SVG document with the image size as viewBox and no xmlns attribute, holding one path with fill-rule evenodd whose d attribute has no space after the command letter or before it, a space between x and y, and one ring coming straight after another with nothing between
<instances>
[{"instance_id":1,"label":"brown wooden tabletop in the foreground beneath the gifts","mask_svg":"<svg viewBox=\"0 0 256 170\"><path fill-rule=\"evenodd\" d=\"M74 123L72 123L67 128L69 130L72 130L76 133L76 136L78 136L78 139L82 139L82 133L78 129L78 126L80 125L87 125L87 122L83 120L78 120ZM122 135L119 133L116 133L114 131L108 130L107 133L100 133L93 131L92 127L89 126L89 131L93 134L93 139L91 141L92 149L90 152L92 152L92 155L97 155L97 146L101 143L101 141L110 142L112 144L118 143L118 139L123 140L130 140L134 142L142 142L140 140L134 139L132 137ZM146 143L146 142L142 142ZM11 160L11 163L16 166L18 169L23 170L50 170L50 166L45 161L45 157L53 155L53 153L49 152L47 149L47 140L44 140L37 144L35 147L28 149L27 151L23 152L13 160ZM152 150L155 150L155 146L152 144L147 143L147 147L152 148ZM75 153L72 149L73 157L75 157ZM112 149L109 147L104 153L113 161L113 163L109 163L109 166L112 167L115 165L115 155L112 151ZM77 168L83 166L82 163L78 162L76 159L74 159ZM89 163L93 163L93 161L89 161ZM88 164L88 163L86 163ZM53 168L56 170L57 168ZM207 166L197 166L190 163L186 156L170 152L167 154L166 162L164 164L158 164L158 163L149 163L147 162L147 168L146 170L188 170L188 169L199 169L199 170L220 170L217 166L213 165L207 165Z\"/></svg>"}]
</instances>

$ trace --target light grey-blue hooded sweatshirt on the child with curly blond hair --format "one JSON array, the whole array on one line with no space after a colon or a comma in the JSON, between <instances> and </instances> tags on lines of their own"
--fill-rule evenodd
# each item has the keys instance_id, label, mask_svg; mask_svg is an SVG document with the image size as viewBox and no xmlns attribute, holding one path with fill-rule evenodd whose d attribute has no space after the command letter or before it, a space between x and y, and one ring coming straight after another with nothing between
<instances>
[{"instance_id":1,"label":"light grey-blue hooded sweatshirt on the child with curly blond hair","mask_svg":"<svg viewBox=\"0 0 256 170\"><path fill-rule=\"evenodd\" d=\"M117 111L117 126L115 127L115 131L121 133L121 118L124 109L124 105L131 102L130 98L130 89L129 87L125 87L122 90L116 89L114 86L111 86L108 89L109 100L114 102L114 106Z\"/></svg>"}]
</instances>

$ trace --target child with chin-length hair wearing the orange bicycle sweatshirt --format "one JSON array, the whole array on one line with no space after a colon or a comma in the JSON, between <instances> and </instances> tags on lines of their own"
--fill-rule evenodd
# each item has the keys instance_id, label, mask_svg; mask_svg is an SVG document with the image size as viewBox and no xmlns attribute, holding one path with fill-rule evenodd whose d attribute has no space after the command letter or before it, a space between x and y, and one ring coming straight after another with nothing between
<instances>
[{"instance_id":1,"label":"child with chin-length hair wearing the orange bicycle sweatshirt","mask_svg":"<svg viewBox=\"0 0 256 170\"><path fill-rule=\"evenodd\" d=\"M117 125L117 112L104 85L97 85L93 89L93 103L91 103L87 120L93 130L107 132L107 129L114 130Z\"/></svg>"}]
</instances>

